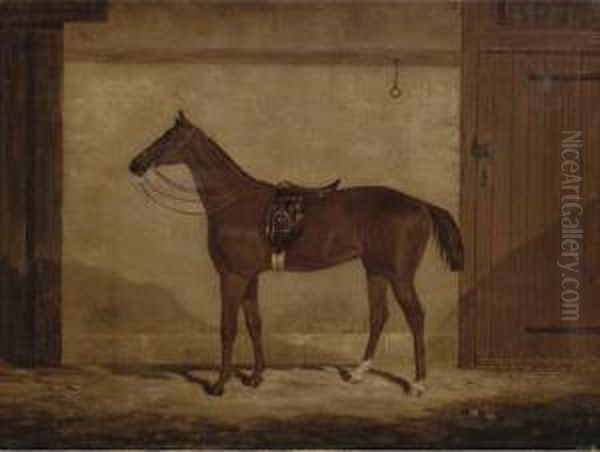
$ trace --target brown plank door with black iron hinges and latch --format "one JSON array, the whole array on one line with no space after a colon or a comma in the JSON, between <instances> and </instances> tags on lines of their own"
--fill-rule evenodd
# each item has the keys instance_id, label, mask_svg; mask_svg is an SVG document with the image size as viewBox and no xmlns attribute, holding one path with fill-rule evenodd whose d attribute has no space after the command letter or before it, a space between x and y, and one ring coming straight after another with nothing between
<instances>
[{"instance_id":1,"label":"brown plank door with black iron hinges and latch","mask_svg":"<svg viewBox=\"0 0 600 452\"><path fill-rule=\"evenodd\" d=\"M475 361L600 358L600 55L480 51Z\"/></svg>"}]
</instances>

